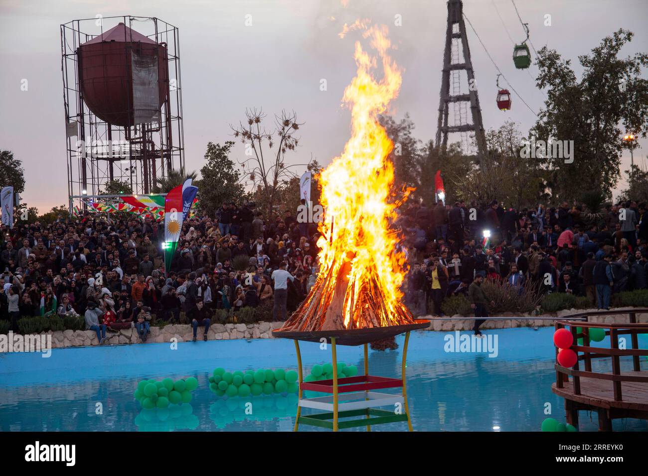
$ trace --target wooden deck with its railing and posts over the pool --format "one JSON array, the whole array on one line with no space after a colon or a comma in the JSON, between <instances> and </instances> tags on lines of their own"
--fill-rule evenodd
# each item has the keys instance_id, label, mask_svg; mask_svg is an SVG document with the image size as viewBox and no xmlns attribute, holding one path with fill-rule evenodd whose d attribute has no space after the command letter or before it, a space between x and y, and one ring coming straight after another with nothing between
<instances>
[{"instance_id":1,"label":"wooden deck with its railing and posts over the pool","mask_svg":"<svg viewBox=\"0 0 648 476\"><path fill-rule=\"evenodd\" d=\"M648 349L638 345L638 334L648 334L648 324L636 322L636 315L640 313L648 313L648 309L575 313L556 321L556 330L567 328L572 332L574 345L571 348L578 356L572 368L555 364L556 382L551 385L551 390L565 400L567 423L578 427L579 410L596 411L599 431L612 431L615 418L648 420L648 371L641 368L642 356L648 356ZM627 323L589 322L589 318L596 315L623 314L628 315ZM577 331L579 327L581 332ZM605 329L605 335L610 336L609 348L592 345L592 328ZM619 336L623 335L629 335L630 348L619 348ZM583 339L583 345L578 344L579 338ZM620 357L623 356L632 357L632 370L621 370ZM610 372L592 371L593 359L608 357ZM584 370L581 370L581 363ZM648 361L644 361L643 366L648 368Z\"/></svg>"}]
</instances>

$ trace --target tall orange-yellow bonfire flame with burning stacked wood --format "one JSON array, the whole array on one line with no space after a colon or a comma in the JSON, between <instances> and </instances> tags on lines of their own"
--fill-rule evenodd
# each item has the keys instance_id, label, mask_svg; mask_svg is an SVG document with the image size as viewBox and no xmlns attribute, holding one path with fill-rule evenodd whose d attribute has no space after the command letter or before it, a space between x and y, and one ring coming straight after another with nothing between
<instances>
[{"instance_id":1,"label":"tall orange-yellow bonfire flame with burning stacked wood","mask_svg":"<svg viewBox=\"0 0 648 476\"><path fill-rule=\"evenodd\" d=\"M356 22L348 30L365 28ZM316 284L284 328L328 330L382 327L413 323L400 302L406 256L399 250L399 234L390 229L399 201L393 192L393 149L378 115L397 97L400 70L389 57L387 28L363 32L378 52L383 76L371 72L378 58L355 45L357 73L344 91L351 109L351 139L343 153L321 172L321 205L325 221L319 225L320 271ZM406 190L402 199L405 199Z\"/></svg>"}]
</instances>

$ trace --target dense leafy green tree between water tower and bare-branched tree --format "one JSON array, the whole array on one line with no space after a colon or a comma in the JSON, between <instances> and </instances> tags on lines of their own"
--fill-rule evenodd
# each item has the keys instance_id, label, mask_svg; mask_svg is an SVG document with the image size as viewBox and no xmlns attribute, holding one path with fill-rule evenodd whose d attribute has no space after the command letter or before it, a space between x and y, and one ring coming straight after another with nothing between
<instances>
[{"instance_id":1,"label":"dense leafy green tree between water tower and bare-branched tree","mask_svg":"<svg viewBox=\"0 0 648 476\"><path fill-rule=\"evenodd\" d=\"M200 169L202 179L196 185L200 193L200 205L212 216L223 203L240 203L248 196L241 183L242 174L229 158L233 145L233 141L227 141L223 145L213 142L207 144L207 162Z\"/></svg>"}]
</instances>

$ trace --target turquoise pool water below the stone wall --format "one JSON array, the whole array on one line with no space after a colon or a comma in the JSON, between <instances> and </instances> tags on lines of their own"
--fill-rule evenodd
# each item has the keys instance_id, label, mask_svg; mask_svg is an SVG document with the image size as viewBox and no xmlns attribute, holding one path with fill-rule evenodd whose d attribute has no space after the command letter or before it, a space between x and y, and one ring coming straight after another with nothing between
<instances>
[{"instance_id":1,"label":"turquoise pool water below the stone wall","mask_svg":"<svg viewBox=\"0 0 648 476\"><path fill-rule=\"evenodd\" d=\"M486 334L498 337L496 357L445 352L448 334L444 332L411 335L407 380L415 430L538 431L548 416L544 414L547 403L551 416L564 421L564 402L551 392L555 381L553 328L501 329ZM370 350L370 373L399 377L403 341L404 336L397 337L399 350ZM330 348L320 350L318 344L301 343L301 350L307 373L316 363L330 362ZM362 346L339 346L338 360L362 369ZM609 371L609 360L599 364ZM623 368L631 365L630 359L622 359ZM168 344L146 344L55 349L49 358L1 354L0 429L292 431L296 395L218 399L207 382L216 367L229 371L296 368L294 345L284 339L240 339L179 343L177 350ZM643 359L642 368L646 367ZM142 412L133 398L143 378L188 376L196 376L199 387L192 402L183 407ZM251 414L246 414L248 402ZM590 420L589 414L581 412L580 420L581 431L597 430L596 414ZM373 427L373 431L404 429L404 423ZM648 431L648 425L640 420L615 420L614 429ZM300 430L327 431L307 426Z\"/></svg>"}]
</instances>

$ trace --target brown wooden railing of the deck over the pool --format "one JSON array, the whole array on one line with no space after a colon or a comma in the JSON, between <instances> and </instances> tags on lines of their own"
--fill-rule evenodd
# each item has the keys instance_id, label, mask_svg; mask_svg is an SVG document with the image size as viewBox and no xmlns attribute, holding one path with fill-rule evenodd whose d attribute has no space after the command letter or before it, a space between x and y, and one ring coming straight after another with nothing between
<instances>
[{"instance_id":1,"label":"brown wooden railing of the deck over the pool","mask_svg":"<svg viewBox=\"0 0 648 476\"><path fill-rule=\"evenodd\" d=\"M581 312L566 315L559 321L556 321L556 330L561 328L568 328L572 332L573 345L571 349L576 352L578 359L573 368L562 367L558 363L555 364L556 369L556 387L562 389L564 381L568 380L568 376L573 377L573 393L581 395L581 378L588 377L598 380L612 381L614 390L614 400L621 402L623 400L623 392L621 388L622 382L641 382L648 383L648 373L643 375L624 375L621 374L620 357L632 356L632 366L635 372L640 372L641 357L648 356L648 349L639 348L638 335L648 334L648 323L640 324L636 322L636 315L640 313L648 313L648 309L632 309L632 310L614 310L614 311L596 311L596 312ZM605 323L592 323L589 321L590 317L596 315L628 315L628 322L621 324L605 324ZM583 319L586 321L574 321L573 319ZM577 332L577 328L582 328L582 332ZM610 336L610 347L596 347L592 346L590 342L590 329L602 328L606 329L605 335ZM631 348L619 348L619 336L630 335ZM578 344L578 339L583 338L583 345ZM556 349L556 356L558 349ZM611 373L592 372L592 359L602 357L611 358ZM580 363L584 362L584 370L580 370Z\"/></svg>"}]
</instances>

